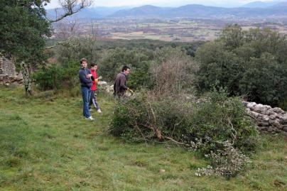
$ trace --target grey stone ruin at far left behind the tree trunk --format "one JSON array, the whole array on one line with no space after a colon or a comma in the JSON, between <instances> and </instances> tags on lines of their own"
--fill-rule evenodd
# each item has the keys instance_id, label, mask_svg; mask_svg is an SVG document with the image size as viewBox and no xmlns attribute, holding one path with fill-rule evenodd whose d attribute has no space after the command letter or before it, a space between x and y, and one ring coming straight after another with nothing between
<instances>
[{"instance_id":1,"label":"grey stone ruin at far left behind the tree trunk","mask_svg":"<svg viewBox=\"0 0 287 191\"><path fill-rule=\"evenodd\" d=\"M0 56L0 84L22 84L23 77L18 74L14 63L4 57Z\"/></svg>"}]
</instances>

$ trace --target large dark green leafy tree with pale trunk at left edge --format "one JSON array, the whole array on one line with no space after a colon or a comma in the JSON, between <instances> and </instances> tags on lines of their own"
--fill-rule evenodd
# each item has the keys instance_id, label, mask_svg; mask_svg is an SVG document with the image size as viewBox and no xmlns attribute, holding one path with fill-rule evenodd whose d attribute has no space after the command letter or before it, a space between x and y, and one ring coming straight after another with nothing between
<instances>
[{"instance_id":1,"label":"large dark green leafy tree with pale trunk at left edge","mask_svg":"<svg viewBox=\"0 0 287 191\"><path fill-rule=\"evenodd\" d=\"M24 87L31 94L31 67L43 62L45 40L52 33L51 23L77 13L90 0L60 0L64 13L55 20L45 18L44 6L50 0L0 1L0 52L21 63Z\"/></svg>"}]
</instances>

